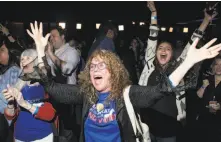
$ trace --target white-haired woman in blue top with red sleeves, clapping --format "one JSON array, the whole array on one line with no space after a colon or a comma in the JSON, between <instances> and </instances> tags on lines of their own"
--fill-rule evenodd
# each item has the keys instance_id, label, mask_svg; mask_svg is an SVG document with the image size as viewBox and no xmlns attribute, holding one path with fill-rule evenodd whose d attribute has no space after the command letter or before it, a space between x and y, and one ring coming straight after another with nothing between
<instances>
[{"instance_id":1,"label":"white-haired woman in blue top with red sleeves, clapping","mask_svg":"<svg viewBox=\"0 0 221 142\"><path fill-rule=\"evenodd\" d=\"M20 66L22 73L18 82L2 91L8 101L5 116L16 120L15 142L53 142L51 121L56 111L46 102L48 96L44 88L38 82L30 81L30 78L38 78L34 69L37 66L35 49L27 49L21 54Z\"/></svg>"}]
</instances>

